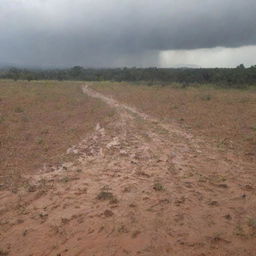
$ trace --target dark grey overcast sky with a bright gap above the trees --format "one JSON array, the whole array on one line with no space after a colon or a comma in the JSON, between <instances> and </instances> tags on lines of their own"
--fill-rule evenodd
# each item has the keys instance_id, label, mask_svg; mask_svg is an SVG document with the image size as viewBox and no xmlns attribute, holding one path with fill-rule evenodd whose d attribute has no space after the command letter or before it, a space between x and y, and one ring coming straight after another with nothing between
<instances>
[{"instance_id":1,"label":"dark grey overcast sky with a bright gap above the trees","mask_svg":"<svg viewBox=\"0 0 256 256\"><path fill-rule=\"evenodd\" d=\"M0 0L0 64L256 64L256 0Z\"/></svg>"}]
</instances>

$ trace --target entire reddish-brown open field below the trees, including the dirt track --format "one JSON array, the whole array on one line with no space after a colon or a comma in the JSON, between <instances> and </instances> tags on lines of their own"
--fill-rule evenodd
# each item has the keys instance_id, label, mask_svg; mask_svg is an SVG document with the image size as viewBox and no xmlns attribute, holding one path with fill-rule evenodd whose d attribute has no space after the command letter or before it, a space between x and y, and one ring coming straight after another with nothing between
<instances>
[{"instance_id":1,"label":"entire reddish-brown open field below the trees, including the dirt track","mask_svg":"<svg viewBox=\"0 0 256 256\"><path fill-rule=\"evenodd\" d=\"M24 181L1 186L0 255L255 255L254 91L0 90L2 173Z\"/></svg>"}]
</instances>

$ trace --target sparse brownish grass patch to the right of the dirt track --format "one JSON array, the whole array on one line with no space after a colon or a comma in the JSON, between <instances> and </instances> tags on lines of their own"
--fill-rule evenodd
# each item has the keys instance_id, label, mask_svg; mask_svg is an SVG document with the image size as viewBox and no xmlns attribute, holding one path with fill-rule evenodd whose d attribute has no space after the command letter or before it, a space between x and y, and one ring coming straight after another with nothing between
<instances>
[{"instance_id":1,"label":"sparse brownish grass patch to the right of the dirt track","mask_svg":"<svg viewBox=\"0 0 256 256\"><path fill-rule=\"evenodd\" d=\"M256 154L256 91L94 83L93 87L165 122L178 122L223 150Z\"/></svg>"}]
</instances>

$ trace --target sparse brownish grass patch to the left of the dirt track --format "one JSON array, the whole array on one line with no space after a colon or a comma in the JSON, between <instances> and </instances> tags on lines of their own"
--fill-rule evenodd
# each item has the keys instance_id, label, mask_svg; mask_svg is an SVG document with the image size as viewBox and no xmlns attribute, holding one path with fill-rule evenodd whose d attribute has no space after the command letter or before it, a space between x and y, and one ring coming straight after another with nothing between
<instances>
[{"instance_id":1,"label":"sparse brownish grass patch to the left of the dirt track","mask_svg":"<svg viewBox=\"0 0 256 256\"><path fill-rule=\"evenodd\" d=\"M113 118L113 110L82 94L80 86L0 81L0 183L67 160L70 145Z\"/></svg>"}]
</instances>

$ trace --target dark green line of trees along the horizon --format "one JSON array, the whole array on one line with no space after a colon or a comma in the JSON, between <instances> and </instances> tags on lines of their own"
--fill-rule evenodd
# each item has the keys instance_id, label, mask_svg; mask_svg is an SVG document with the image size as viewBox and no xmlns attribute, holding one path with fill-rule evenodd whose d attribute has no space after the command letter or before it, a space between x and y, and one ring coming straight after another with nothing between
<instances>
[{"instance_id":1,"label":"dark green line of trees along the horizon","mask_svg":"<svg viewBox=\"0 0 256 256\"><path fill-rule=\"evenodd\" d=\"M0 78L14 80L78 80L78 81L127 81L146 82L149 85L180 83L215 84L221 87L247 87L256 85L256 65L245 68L83 68L21 69L0 71Z\"/></svg>"}]
</instances>

